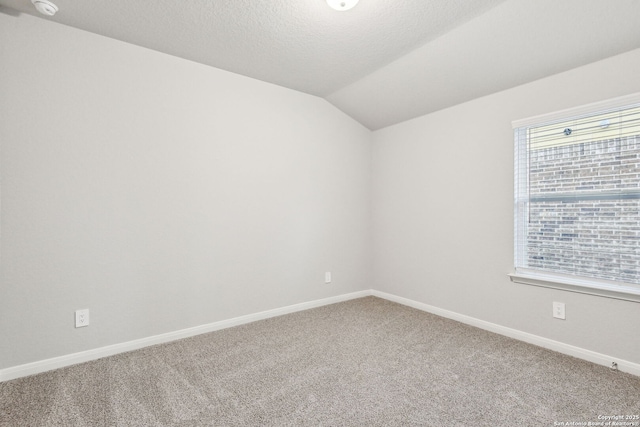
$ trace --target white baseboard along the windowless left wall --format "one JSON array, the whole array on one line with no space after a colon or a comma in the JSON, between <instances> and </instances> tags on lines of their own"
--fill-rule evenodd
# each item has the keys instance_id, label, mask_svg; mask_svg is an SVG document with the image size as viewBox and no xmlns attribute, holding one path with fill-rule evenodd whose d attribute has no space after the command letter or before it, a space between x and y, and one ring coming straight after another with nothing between
<instances>
[{"instance_id":1,"label":"white baseboard along the windowless left wall","mask_svg":"<svg viewBox=\"0 0 640 427\"><path fill-rule=\"evenodd\" d=\"M42 372L63 368L65 366L75 365L78 363L89 362L91 360L113 356L115 354L124 353L127 351L138 350L140 348L148 347L151 345L162 344L182 338L188 338L194 335L200 335L207 332L218 331L220 329L231 328L233 326L244 325L245 323L251 323L257 320L282 316L283 314L295 313L296 311L308 310L310 308L335 304L337 302L362 298L369 295L371 295L370 290L353 292L349 294L338 295L335 297L289 305L273 310L261 311L259 313L248 314L246 316L234 317L232 319L221 320L219 322L195 326L193 328L182 329L174 332L168 332L166 334L154 335L147 338L109 345L106 347L100 347L92 350L82 351L79 353L73 353L65 356L54 357L51 359L40 360L37 362L26 363L24 365L13 366L11 368L0 370L0 382L39 374Z\"/></svg>"}]
</instances>

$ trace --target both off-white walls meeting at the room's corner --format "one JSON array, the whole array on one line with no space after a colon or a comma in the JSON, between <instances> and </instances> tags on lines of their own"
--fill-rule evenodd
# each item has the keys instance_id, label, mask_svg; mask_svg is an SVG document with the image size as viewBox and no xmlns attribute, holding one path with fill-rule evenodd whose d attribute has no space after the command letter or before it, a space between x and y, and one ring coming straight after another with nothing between
<instances>
[{"instance_id":1,"label":"both off-white walls meeting at the room's corner","mask_svg":"<svg viewBox=\"0 0 640 427\"><path fill-rule=\"evenodd\" d=\"M639 363L640 305L506 276L511 120L638 75L640 50L377 131L372 176L319 98L0 14L0 369L369 288Z\"/></svg>"}]
</instances>

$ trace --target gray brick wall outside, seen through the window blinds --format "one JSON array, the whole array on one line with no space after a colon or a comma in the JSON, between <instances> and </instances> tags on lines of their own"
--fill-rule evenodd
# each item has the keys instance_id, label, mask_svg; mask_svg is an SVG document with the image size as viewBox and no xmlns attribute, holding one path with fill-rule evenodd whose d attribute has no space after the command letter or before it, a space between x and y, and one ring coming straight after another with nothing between
<instances>
[{"instance_id":1,"label":"gray brick wall outside, seen through the window blinds","mask_svg":"<svg viewBox=\"0 0 640 427\"><path fill-rule=\"evenodd\" d=\"M529 268L640 284L640 200L612 195L640 190L640 135L532 149L528 179Z\"/></svg>"}]
</instances>

